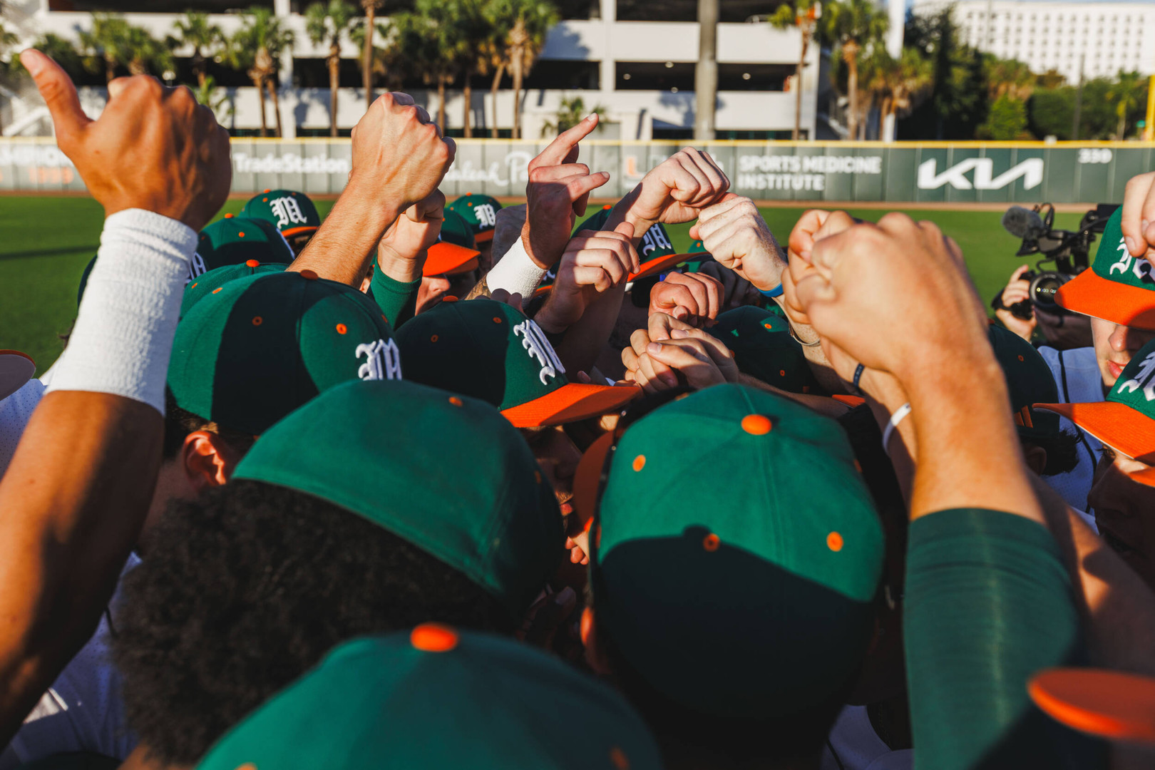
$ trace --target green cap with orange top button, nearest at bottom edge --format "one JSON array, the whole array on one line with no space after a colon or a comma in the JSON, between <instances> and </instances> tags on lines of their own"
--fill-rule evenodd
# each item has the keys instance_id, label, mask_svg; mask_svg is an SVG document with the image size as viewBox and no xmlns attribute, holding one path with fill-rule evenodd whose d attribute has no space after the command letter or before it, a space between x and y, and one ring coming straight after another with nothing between
<instances>
[{"instance_id":1,"label":"green cap with orange top button, nearest at bottom edge","mask_svg":"<svg viewBox=\"0 0 1155 770\"><path fill-rule=\"evenodd\" d=\"M341 644L226 733L198 765L661 767L644 723L605 685L526 644L434 623Z\"/></svg>"}]
</instances>

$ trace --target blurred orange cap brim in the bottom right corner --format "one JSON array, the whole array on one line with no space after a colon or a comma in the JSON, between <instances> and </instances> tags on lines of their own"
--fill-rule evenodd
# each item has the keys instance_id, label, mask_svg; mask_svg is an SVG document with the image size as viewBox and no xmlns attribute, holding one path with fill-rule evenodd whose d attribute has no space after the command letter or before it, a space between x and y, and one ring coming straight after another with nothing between
<instances>
[{"instance_id":1,"label":"blurred orange cap brim in the bottom right corner","mask_svg":"<svg viewBox=\"0 0 1155 770\"><path fill-rule=\"evenodd\" d=\"M1155 679L1095 668L1048 668L1027 691L1068 727L1113 740L1155 745Z\"/></svg>"}]
</instances>

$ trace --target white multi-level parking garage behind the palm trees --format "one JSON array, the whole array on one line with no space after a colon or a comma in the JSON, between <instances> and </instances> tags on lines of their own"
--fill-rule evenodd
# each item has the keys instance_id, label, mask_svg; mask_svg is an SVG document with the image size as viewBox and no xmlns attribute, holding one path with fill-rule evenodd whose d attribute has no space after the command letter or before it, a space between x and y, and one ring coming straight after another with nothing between
<instances>
[{"instance_id":1,"label":"white multi-level parking garage behind the palm trees","mask_svg":"<svg viewBox=\"0 0 1155 770\"><path fill-rule=\"evenodd\" d=\"M289 29L296 44L281 61L281 117L286 136L328 135L329 89L323 57L327 46L314 46L301 16L308 0L266 0ZM133 24L164 37L186 8L224 12L247 6L248 0L7 0L6 21L15 23L25 43L45 32L75 39L91 24L90 10L124 13ZM359 5L356 3L355 5ZM796 31L778 31L759 21L746 21L773 12L777 0L721 0L717 25L718 94L715 118L718 139L789 139L795 122L795 65L800 51ZM523 94L522 135L532 139L554 118L560 100L581 96L587 109L601 106L606 119L601 139L684 139L694 125L694 70L698 61L696 0L561 0L564 21L550 33L542 57ZM213 22L226 33L239 25L231 14L214 13ZM178 58L192 51L177 48ZM342 89L338 126L348 133L364 113L357 69L359 51L345 42L342 50ZM819 87L818 46L811 46L803 77L802 126L814 135ZM180 61L178 61L180 63ZM234 133L260 126L258 95L243 75L224 83L233 117L226 121ZM103 89L97 76L84 95L98 110ZM407 83L431 114L438 107L435 91ZM449 129L461 128L464 102L461 84L446 98ZM489 136L497 126L508 135L513 122L513 94L502 84L497 104L490 98L489 77L477 77L470 104L475 136ZM417 87L417 88L415 88ZM0 98L0 109L6 99ZM35 99L14 103L3 115L5 135L44 133ZM271 109L270 109L271 114ZM269 118L273 124L273 118Z\"/></svg>"}]
</instances>

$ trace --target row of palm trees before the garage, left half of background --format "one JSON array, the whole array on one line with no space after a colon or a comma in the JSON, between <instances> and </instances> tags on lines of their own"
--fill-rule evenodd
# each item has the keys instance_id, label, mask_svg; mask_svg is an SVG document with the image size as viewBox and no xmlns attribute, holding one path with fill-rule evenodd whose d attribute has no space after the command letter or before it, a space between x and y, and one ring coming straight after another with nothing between
<instances>
[{"instance_id":1,"label":"row of palm trees before the garage, left half of background","mask_svg":"<svg viewBox=\"0 0 1155 770\"><path fill-rule=\"evenodd\" d=\"M360 68L365 103L374 88L400 90L402 83L419 81L438 92L438 124L446 127L446 89L462 82L464 135L474 135L470 110L475 75L490 76L493 114L501 80L513 81L513 136L519 137L521 91L550 28L560 15L550 0L416 0L411 10L379 17L385 0L319 0L305 10L305 30L311 43L328 46L325 58L329 74L329 134L337 136L337 89L341 48L348 40L362 51ZM46 33L33 45L70 73L103 73L111 81L119 72L151 74L166 82L177 79L172 51L192 51L195 83L188 83L202 104L223 110L225 97L209 74L209 62L243 72L256 88L261 105L261 136L269 135L267 99L271 102L275 136L282 135L278 109L280 59L296 43L293 31L269 8L253 6L239 12L240 27L225 35L203 13L186 12L164 39L131 24L117 14L94 13L91 25L81 30L77 43ZM14 50L16 36L0 23L0 54ZM2 62L0 62L2 63ZM20 76L15 55L2 74ZM495 122L495 121L494 121ZM491 127L498 135L497 126Z\"/></svg>"}]
</instances>

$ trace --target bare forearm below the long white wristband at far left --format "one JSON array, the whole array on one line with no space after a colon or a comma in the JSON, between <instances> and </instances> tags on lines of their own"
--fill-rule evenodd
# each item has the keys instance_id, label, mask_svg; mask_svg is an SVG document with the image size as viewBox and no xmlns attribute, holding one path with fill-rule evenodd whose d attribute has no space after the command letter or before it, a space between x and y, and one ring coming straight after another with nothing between
<instances>
[{"instance_id":1,"label":"bare forearm below the long white wristband at far left","mask_svg":"<svg viewBox=\"0 0 1155 770\"><path fill-rule=\"evenodd\" d=\"M96 630L156 484L161 414L50 393L0 481L0 743ZM64 462L67 458L67 462Z\"/></svg>"}]
</instances>

